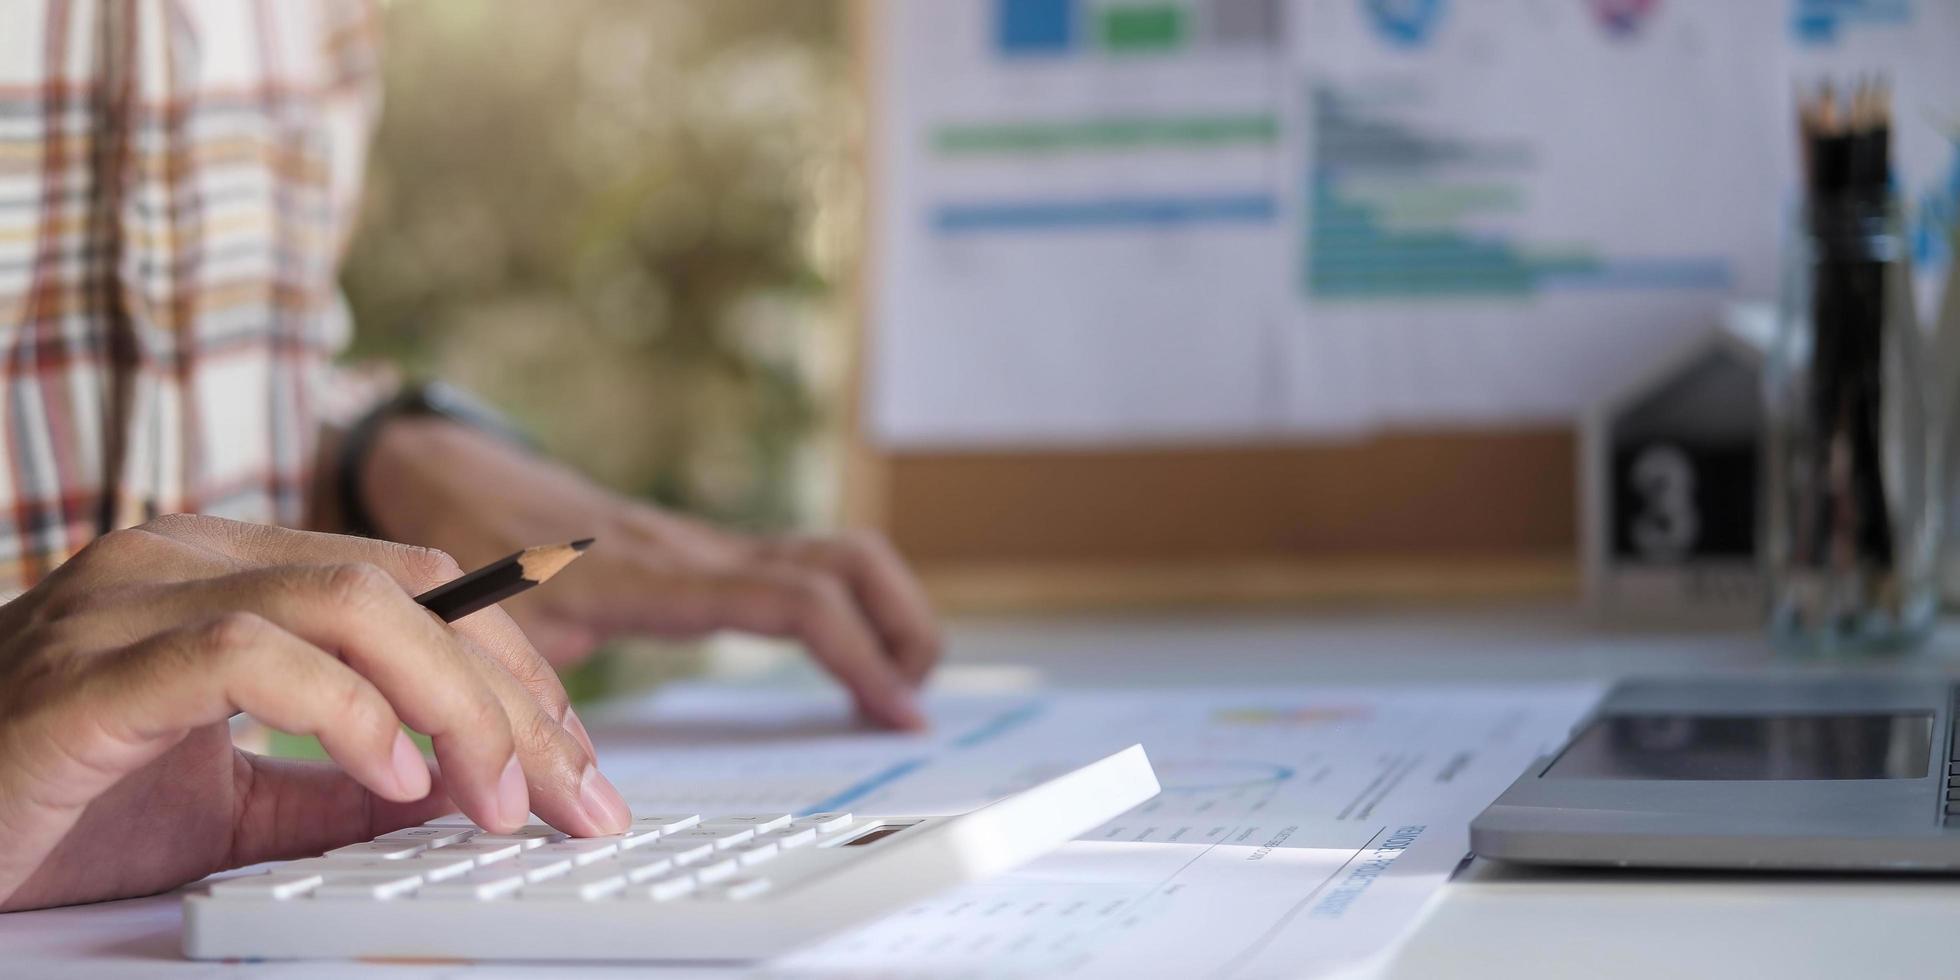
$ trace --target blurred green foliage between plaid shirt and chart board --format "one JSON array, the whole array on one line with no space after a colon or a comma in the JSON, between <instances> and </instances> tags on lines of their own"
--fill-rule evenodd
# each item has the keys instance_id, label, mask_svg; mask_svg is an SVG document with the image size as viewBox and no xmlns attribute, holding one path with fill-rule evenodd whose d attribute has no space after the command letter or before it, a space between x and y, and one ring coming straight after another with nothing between
<instances>
[{"instance_id":1,"label":"blurred green foliage between plaid shirt and chart board","mask_svg":"<svg viewBox=\"0 0 1960 980\"><path fill-rule=\"evenodd\" d=\"M351 357L465 384L617 490L808 517L857 231L843 4L384 10Z\"/></svg>"}]
</instances>

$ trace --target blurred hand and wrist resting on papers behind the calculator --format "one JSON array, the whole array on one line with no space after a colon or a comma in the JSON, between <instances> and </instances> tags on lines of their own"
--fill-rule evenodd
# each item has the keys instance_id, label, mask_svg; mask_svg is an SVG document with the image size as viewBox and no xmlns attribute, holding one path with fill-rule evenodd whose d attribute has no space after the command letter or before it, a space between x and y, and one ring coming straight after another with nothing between
<instances>
[{"instance_id":1,"label":"blurred hand and wrist resting on papers behind the calculator","mask_svg":"<svg viewBox=\"0 0 1960 980\"><path fill-rule=\"evenodd\" d=\"M563 586L508 604L551 662L576 661L617 633L790 637L866 717L923 725L915 690L939 659L939 627L917 580L874 535L721 531L445 419L390 421L363 490L382 533L470 564L535 541L598 537L561 574Z\"/></svg>"}]
</instances>

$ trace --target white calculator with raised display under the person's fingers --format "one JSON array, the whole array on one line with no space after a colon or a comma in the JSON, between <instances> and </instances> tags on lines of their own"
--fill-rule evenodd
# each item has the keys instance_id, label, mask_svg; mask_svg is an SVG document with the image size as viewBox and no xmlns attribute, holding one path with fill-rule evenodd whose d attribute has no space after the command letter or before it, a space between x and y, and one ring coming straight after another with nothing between
<instances>
[{"instance_id":1,"label":"white calculator with raised display under the person's fingers","mask_svg":"<svg viewBox=\"0 0 1960 980\"><path fill-rule=\"evenodd\" d=\"M184 953L757 960L1009 870L1156 790L1133 745L953 817L645 813L584 839L441 817L186 896Z\"/></svg>"}]
</instances>

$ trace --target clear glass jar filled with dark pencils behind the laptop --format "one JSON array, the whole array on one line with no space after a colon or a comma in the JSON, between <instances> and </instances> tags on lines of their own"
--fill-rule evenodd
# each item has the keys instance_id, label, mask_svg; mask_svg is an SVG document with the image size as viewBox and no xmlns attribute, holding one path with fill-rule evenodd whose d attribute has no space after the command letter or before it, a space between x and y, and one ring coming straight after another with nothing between
<instances>
[{"instance_id":1,"label":"clear glass jar filled with dark pencils behind the laptop","mask_svg":"<svg viewBox=\"0 0 1960 980\"><path fill-rule=\"evenodd\" d=\"M1887 194L1813 200L1797 227L1764 372L1770 639L1911 649L1938 613L1944 466L1907 241Z\"/></svg>"}]
</instances>

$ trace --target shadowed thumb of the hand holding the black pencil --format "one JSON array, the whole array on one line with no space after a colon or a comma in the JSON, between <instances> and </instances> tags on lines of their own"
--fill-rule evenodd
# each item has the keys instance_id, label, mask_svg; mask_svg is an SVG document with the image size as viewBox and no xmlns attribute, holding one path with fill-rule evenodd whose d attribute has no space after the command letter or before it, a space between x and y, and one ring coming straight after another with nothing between
<instances>
[{"instance_id":1,"label":"shadowed thumb of the hand holding the black pencil","mask_svg":"<svg viewBox=\"0 0 1960 980\"><path fill-rule=\"evenodd\" d=\"M396 804L370 794L333 762L239 755L251 784L233 827L231 866L314 857L457 809L435 762L429 762L429 796Z\"/></svg>"}]
</instances>

